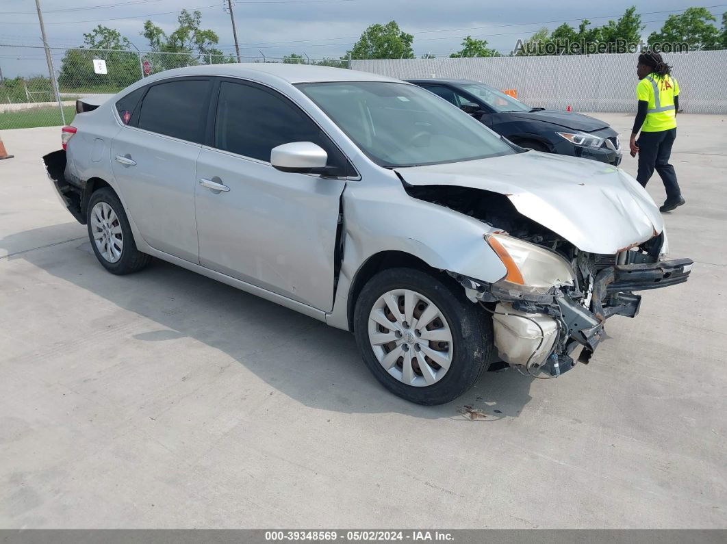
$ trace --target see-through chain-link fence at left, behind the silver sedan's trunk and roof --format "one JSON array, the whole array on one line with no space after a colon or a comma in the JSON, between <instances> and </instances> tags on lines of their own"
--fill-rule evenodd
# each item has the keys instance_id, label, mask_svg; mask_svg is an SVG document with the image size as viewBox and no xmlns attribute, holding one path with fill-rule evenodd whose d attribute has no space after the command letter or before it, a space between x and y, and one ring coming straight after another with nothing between
<instances>
[{"instance_id":1,"label":"see-through chain-link fence at left, behind the silver sedan's trunk and roof","mask_svg":"<svg viewBox=\"0 0 727 544\"><path fill-rule=\"evenodd\" d=\"M68 124L73 121L76 113L77 98L116 94L135 81L172 68L237 62L236 57L231 54L57 47L51 47L50 53L58 96L48 76L43 47L0 44L0 67L4 62L13 60L23 64L25 73L35 74L4 77L0 81L0 130ZM311 59L297 55L242 57L241 61L310 63L341 68L348 66L345 61Z\"/></svg>"}]
</instances>

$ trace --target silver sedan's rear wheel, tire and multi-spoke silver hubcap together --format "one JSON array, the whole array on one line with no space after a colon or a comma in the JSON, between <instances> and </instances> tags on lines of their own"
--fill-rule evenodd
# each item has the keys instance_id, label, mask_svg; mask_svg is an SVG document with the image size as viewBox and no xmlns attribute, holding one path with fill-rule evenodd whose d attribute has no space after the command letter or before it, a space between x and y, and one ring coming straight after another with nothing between
<instances>
[{"instance_id":1,"label":"silver sedan's rear wheel, tire and multi-spoke silver hubcap together","mask_svg":"<svg viewBox=\"0 0 727 544\"><path fill-rule=\"evenodd\" d=\"M137 249L124 206L111 187L91 195L86 225L96 258L112 274L131 274L151 261L150 255Z\"/></svg>"}]
</instances>

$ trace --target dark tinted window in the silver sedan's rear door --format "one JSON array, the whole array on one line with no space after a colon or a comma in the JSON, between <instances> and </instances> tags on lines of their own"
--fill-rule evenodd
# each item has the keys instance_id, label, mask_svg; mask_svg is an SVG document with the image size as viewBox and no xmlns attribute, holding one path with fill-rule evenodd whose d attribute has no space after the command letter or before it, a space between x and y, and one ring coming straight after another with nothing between
<instances>
[{"instance_id":1,"label":"dark tinted window in the silver sedan's rear door","mask_svg":"<svg viewBox=\"0 0 727 544\"><path fill-rule=\"evenodd\" d=\"M139 128L201 142L209 81L181 80L150 87L139 115Z\"/></svg>"}]
</instances>

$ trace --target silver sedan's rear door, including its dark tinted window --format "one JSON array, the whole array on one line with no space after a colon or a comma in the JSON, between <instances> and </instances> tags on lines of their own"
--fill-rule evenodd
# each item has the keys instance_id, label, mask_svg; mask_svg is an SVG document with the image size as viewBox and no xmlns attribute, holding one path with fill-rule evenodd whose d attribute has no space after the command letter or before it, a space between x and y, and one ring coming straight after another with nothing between
<instances>
[{"instance_id":1,"label":"silver sedan's rear door, including its dark tinted window","mask_svg":"<svg viewBox=\"0 0 727 544\"><path fill-rule=\"evenodd\" d=\"M195 167L211 89L211 78L199 77L150 85L133 112L117 107L124 128L111 144L113 174L144 240L192 262Z\"/></svg>"}]
</instances>

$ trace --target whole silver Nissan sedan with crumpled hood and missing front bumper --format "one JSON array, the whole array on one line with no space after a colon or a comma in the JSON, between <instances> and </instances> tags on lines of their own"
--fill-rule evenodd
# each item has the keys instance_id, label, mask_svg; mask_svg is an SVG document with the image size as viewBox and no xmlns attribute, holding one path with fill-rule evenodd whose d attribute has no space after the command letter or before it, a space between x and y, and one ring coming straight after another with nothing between
<instances>
[{"instance_id":1,"label":"whole silver Nissan sedan with crumpled hood and missing front bumper","mask_svg":"<svg viewBox=\"0 0 727 544\"><path fill-rule=\"evenodd\" d=\"M624 171L523 150L402 81L207 65L79 110L44 161L103 267L155 256L350 330L413 402L499 360L560 375L634 291L691 270Z\"/></svg>"}]
</instances>

